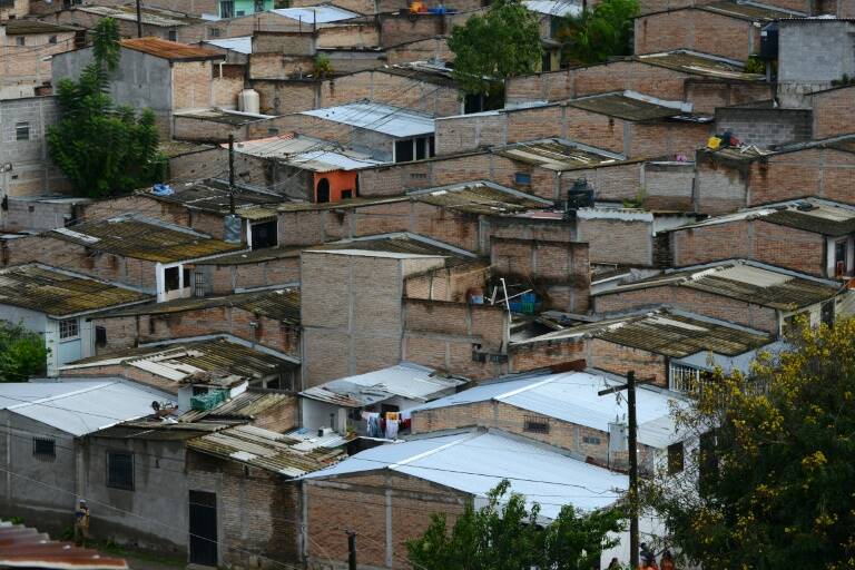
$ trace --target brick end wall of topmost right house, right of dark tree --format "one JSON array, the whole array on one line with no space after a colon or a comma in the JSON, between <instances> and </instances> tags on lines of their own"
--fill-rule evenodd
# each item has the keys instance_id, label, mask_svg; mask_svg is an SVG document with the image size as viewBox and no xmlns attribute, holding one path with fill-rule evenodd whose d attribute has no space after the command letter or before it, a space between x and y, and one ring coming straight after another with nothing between
<instances>
[{"instance_id":1,"label":"brick end wall of topmost right house, right of dark tree","mask_svg":"<svg viewBox=\"0 0 855 570\"><path fill-rule=\"evenodd\" d=\"M635 52L690 49L745 61L759 50L759 28L739 18L686 9L636 19Z\"/></svg>"}]
</instances>

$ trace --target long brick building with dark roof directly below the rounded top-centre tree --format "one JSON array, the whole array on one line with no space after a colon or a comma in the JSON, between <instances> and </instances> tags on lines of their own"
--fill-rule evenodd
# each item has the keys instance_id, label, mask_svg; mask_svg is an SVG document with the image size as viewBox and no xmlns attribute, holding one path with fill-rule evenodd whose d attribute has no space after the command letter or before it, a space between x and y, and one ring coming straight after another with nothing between
<instances>
[{"instance_id":1,"label":"long brick building with dark roof directly below the rounded top-centre tree","mask_svg":"<svg viewBox=\"0 0 855 570\"><path fill-rule=\"evenodd\" d=\"M709 135L711 118L692 115L690 104L633 91L522 106L436 119L436 154L537 138L563 138L628 158L690 155Z\"/></svg>"}]
</instances>

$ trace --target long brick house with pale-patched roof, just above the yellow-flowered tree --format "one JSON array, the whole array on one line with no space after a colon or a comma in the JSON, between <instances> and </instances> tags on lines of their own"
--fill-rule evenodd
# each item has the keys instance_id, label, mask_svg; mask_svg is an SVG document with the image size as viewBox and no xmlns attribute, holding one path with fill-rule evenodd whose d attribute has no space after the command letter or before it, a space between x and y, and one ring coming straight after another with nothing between
<instances>
[{"instance_id":1,"label":"long brick house with pale-patched roof, just above the yellow-flowered tree","mask_svg":"<svg viewBox=\"0 0 855 570\"><path fill-rule=\"evenodd\" d=\"M773 335L789 332L794 317L818 325L851 311L848 291L839 282L747 259L668 269L598 292L591 299L596 313L666 305Z\"/></svg>"}]
</instances>

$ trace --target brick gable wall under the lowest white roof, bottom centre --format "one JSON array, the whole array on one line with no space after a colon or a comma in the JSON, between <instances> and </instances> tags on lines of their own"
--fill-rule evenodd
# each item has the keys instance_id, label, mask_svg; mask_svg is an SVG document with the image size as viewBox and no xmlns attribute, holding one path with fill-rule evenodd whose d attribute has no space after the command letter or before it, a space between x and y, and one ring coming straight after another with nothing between
<instances>
[{"instance_id":1,"label":"brick gable wall under the lowest white roof, bottom centre","mask_svg":"<svg viewBox=\"0 0 855 570\"><path fill-rule=\"evenodd\" d=\"M311 570L345 567L345 530L358 537L361 566L409 569L406 541L421 537L434 513L445 513L448 523L453 524L470 501L448 487L387 470L313 479L303 484ZM387 529L392 532L389 537Z\"/></svg>"}]
</instances>

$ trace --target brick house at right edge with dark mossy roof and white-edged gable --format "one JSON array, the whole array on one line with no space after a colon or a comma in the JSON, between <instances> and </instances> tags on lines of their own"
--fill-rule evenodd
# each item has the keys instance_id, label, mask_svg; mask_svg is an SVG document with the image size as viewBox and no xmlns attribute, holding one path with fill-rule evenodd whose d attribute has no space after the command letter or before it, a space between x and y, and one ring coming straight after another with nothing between
<instances>
[{"instance_id":1,"label":"brick house at right edge with dark mossy roof and white-edged gable","mask_svg":"<svg viewBox=\"0 0 855 570\"><path fill-rule=\"evenodd\" d=\"M826 278L855 275L855 207L820 198L773 203L669 232L674 265L733 256Z\"/></svg>"}]
</instances>

